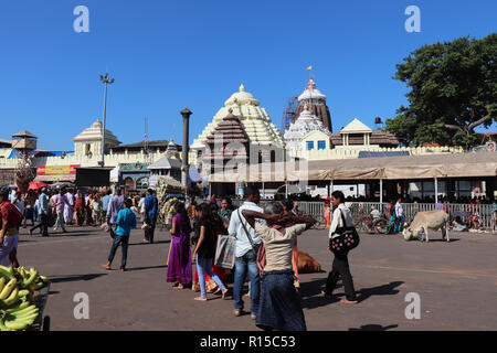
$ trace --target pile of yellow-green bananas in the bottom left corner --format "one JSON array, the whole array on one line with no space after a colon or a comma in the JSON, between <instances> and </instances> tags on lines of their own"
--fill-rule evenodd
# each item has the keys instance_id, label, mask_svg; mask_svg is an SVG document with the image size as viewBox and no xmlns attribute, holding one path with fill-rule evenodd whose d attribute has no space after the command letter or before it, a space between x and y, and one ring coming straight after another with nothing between
<instances>
[{"instance_id":1,"label":"pile of yellow-green bananas in the bottom left corner","mask_svg":"<svg viewBox=\"0 0 497 353\"><path fill-rule=\"evenodd\" d=\"M33 292L49 282L38 270L0 266L0 331L25 330L39 315Z\"/></svg>"}]
</instances>

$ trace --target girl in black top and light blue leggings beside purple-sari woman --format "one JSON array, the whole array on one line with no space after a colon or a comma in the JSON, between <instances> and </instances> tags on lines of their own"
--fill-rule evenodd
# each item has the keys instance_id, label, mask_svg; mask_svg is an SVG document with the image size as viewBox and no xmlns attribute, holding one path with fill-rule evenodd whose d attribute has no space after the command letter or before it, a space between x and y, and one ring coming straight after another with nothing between
<instances>
[{"instance_id":1,"label":"girl in black top and light blue leggings beside purple-sari woman","mask_svg":"<svg viewBox=\"0 0 497 353\"><path fill-rule=\"evenodd\" d=\"M228 289L224 287L221 279L212 271L212 263L215 256L214 233L209 217L211 216L211 208L208 204L201 204L197 210L197 217L199 220L200 237L197 242L193 257L197 260L197 271L199 274L200 297L194 300L207 301L205 277L208 274L214 282L219 286L222 292L222 298L225 299Z\"/></svg>"}]
</instances>

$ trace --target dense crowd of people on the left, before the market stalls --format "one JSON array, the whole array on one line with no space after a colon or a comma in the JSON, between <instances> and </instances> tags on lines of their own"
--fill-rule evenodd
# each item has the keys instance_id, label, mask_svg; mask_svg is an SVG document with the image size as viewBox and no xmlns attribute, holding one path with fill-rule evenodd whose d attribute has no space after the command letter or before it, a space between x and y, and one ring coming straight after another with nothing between
<instances>
[{"instance_id":1,"label":"dense crowd of people on the left, before the market stalls","mask_svg":"<svg viewBox=\"0 0 497 353\"><path fill-rule=\"evenodd\" d=\"M22 194L19 191L2 189L0 191L0 265L19 267L17 259L19 228L29 228L30 235L39 229L43 237L50 235L49 229L62 229L67 233L66 225L103 226L114 235L106 268L110 269L117 247L123 247L120 269L126 270L127 239L131 227L136 227L137 217L144 221L144 243L154 243L155 225L158 215L158 200L154 190L148 190L141 197L124 196L119 189L112 191L83 192L73 189L42 188ZM38 223L38 224L35 224ZM114 229L115 228L115 229Z\"/></svg>"}]
</instances>

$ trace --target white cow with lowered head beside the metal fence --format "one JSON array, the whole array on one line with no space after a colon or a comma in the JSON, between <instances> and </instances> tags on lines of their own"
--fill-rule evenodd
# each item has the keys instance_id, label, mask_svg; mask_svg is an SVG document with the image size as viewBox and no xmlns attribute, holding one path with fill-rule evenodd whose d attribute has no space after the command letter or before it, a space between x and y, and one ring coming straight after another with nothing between
<instances>
[{"instance_id":1,"label":"white cow with lowered head beside the metal fence","mask_svg":"<svg viewBox=\"0 0 497 353\"><path fill-rule=\"evenodd\" d=\"M417 212L414 220L412 220L409 227L406 227L402 234L405 239L410 239L413 235L423 231L426 235L427 243L430 242L427 235L429 229L442 229L442 238L446 237L447 242L451 242L448 238L448 214L443 210ZM421 242L423 242L423 237L421 237Z\"/></svg>"}]
</instances>

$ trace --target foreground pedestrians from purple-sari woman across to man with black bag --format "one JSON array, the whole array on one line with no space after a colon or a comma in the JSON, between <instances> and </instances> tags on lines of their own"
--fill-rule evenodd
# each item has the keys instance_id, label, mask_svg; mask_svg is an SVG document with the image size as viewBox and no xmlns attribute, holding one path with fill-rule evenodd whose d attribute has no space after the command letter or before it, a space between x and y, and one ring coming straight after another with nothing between
<instances>
[{"instance_id":1,"label":"foreground pedestrians from purple-sari woman across to man with black bag","mask_svg":"<svg viewBox=\"0 0 497 353\"><path fill-rule=\"evenodd\" d=\"M223 199L221 210L209 202L194 207L194 217L190 220L184 204L175 205L171 227L171 247L168 259L167 281L176 289L192 285L192 258L197 263L200 296L194 300L207 301L208 292L226 299L228 285L222 276L225 269L213 265L218 237L230 234L235 239L235 264L233 268L233 315L242 317L245 312L243 288L248 278L248 297L251 319L264 330L306 330L304 312L298 296L297 276L297 236L316 224L311 217L302 217L292 212L293 205L287 201L274 201L264 210L258 206L258 189L246 186L244 203L237 208L231 207L231 201ZM329 236L343 227L352 225L351 213L343 205L345 196L335 192L331 203L336 207ZM190 212L190 216L192 213ZM189 222L191 221L191 223ZM193 224L193 226L191 226ZM191 237L190 237L190 234ZM193 247L191 248L190 245ZM264 250L262 252L261 248ZM193 256L191 256L193 254ZM342 302L357 303L347 254L336 256L332 270L328 276L325 298L329 298L342 278L347 299ZM215 288L207 288L212 281Z\"/></svg>"}]
</instances>

